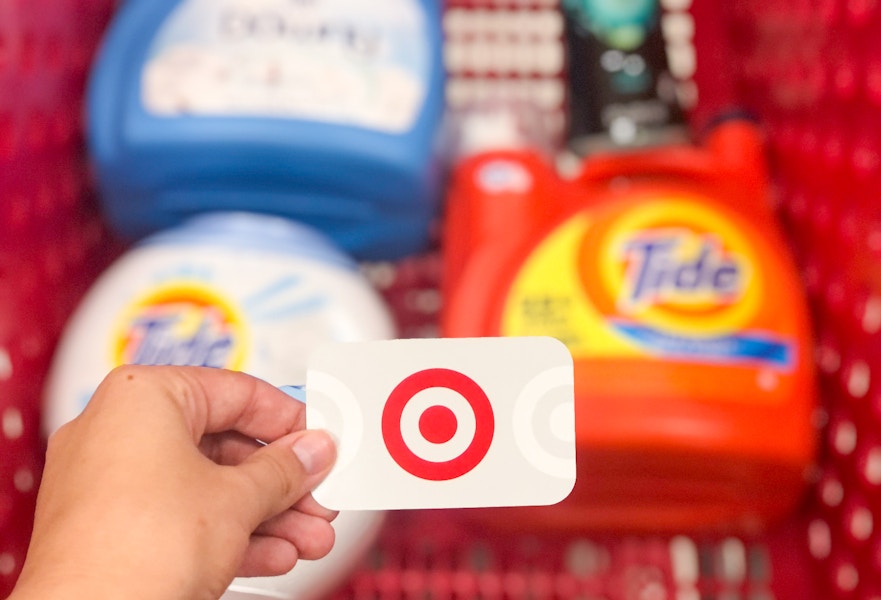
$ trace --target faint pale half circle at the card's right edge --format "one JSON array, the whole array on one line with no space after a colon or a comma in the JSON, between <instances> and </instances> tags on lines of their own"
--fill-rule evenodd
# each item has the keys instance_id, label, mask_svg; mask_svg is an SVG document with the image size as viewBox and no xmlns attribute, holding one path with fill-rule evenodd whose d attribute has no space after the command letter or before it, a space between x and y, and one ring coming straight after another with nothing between
<instances>
[{"instance_id":1,"label":"faint pale half circle at the card's right edge","mask_svg":"<svg viewBox=\"0 0 881 600\"><path fill-rule=\"evenodd\" d=\"M555 367L536 375L514 404L514 439L524 458L554 477L575 473L575 402L572 371Z\"/></svg>"}]
</instances>

